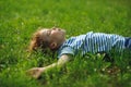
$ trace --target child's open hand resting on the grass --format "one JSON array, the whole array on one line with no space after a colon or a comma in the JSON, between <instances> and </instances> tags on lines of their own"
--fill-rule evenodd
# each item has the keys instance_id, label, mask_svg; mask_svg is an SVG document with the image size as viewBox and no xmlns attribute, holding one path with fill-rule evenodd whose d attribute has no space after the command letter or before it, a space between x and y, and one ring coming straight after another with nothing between
<instances>
[{"instance_id":1,"label":"child's open hand resting on the grass","mask_svg":"<svg viewBox=\"0 0 131 87\"><path fill-rule=\"evenodd\" d=\"M27 75L31 75L34 78L38 78L40 77L43 72L44 72L44 67L33 67L27 71Z\"/></svg>"}]
</instances>

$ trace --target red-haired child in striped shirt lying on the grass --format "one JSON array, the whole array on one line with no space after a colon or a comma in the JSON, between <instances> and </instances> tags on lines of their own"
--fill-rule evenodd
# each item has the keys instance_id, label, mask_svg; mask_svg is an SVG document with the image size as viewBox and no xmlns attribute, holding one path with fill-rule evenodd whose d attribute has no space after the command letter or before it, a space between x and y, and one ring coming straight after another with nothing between
<instances>
[{"instance_id":1,"label":"red-haired child in striped shirt lying on the grass","mask_svg":"<svg viewBox=\"0 0 131 87\"><path fill-rule=\"evenodd\" d=\"M28 70L27 73L35 78L38 78L44 72L50 69L64 65L70 61L71 57L76 55L79 52L81 52L81 55L84 55L88 52L107 53L111 49L116 51L122 51L123 49L131 50L131 38L115 34L90 32L85 35L66 39L66 30L63 29L41 28L34 34L29 46L31 51L37 49L57 51L59 60L45 67Z\"/></svg>"}]
</instances>

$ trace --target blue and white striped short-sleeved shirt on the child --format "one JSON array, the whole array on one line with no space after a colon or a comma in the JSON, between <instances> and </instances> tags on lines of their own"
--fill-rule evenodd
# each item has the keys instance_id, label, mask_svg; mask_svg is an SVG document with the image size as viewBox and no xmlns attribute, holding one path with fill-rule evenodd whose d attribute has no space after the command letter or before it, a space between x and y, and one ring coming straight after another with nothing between
<instances>
[{"instance_id":1,"label":"blue and white striped short-sleeved shirt on the child","mask_svg":"<svg viewBox=\"0 0 131 87\"><path fill-rule=\"evenodd\" d=\"M126 38L114 34L93 33L71 37L58 50L58 58L62 54L78 54L108 52L112 48L115 50L124 49Z\"/></svg>"}]
</instances>

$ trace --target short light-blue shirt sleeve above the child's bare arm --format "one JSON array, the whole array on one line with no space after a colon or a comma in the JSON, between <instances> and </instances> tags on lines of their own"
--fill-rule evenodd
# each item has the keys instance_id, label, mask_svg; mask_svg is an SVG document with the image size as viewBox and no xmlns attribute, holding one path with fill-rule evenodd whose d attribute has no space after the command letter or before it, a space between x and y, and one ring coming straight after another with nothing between
<instances>
[{"instance_id":1,"label":"short light-blue shirt sleeve above the child's bare arm","mask_svg":"<svg viewBox=\"0 0 131 87\"><path fill-rule=\"evenodd\" d=\"M58 53L58 59L62 55L62 54L72 54L74 55L74 50L71 47L64 47L62 48L59 53Z\"/></svg>"}]
</instances>

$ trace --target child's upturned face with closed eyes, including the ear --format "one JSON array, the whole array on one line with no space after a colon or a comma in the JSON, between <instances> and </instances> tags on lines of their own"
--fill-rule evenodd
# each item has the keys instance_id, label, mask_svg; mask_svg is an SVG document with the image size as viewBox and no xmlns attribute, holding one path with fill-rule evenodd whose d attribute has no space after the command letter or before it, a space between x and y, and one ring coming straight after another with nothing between
<instances>
[{"instance_id":1,"label":"child's upturned face with closed eyes, including the ear","mask_svg":"<svg viewBox=\"0 0 131 87\"><path fill-rule=\"evenodd\" d=\"M40 34L49 44L57 42L59 45L66 40L66 30L60 28L41 29Z\"/></svg>"}]
</instances>

